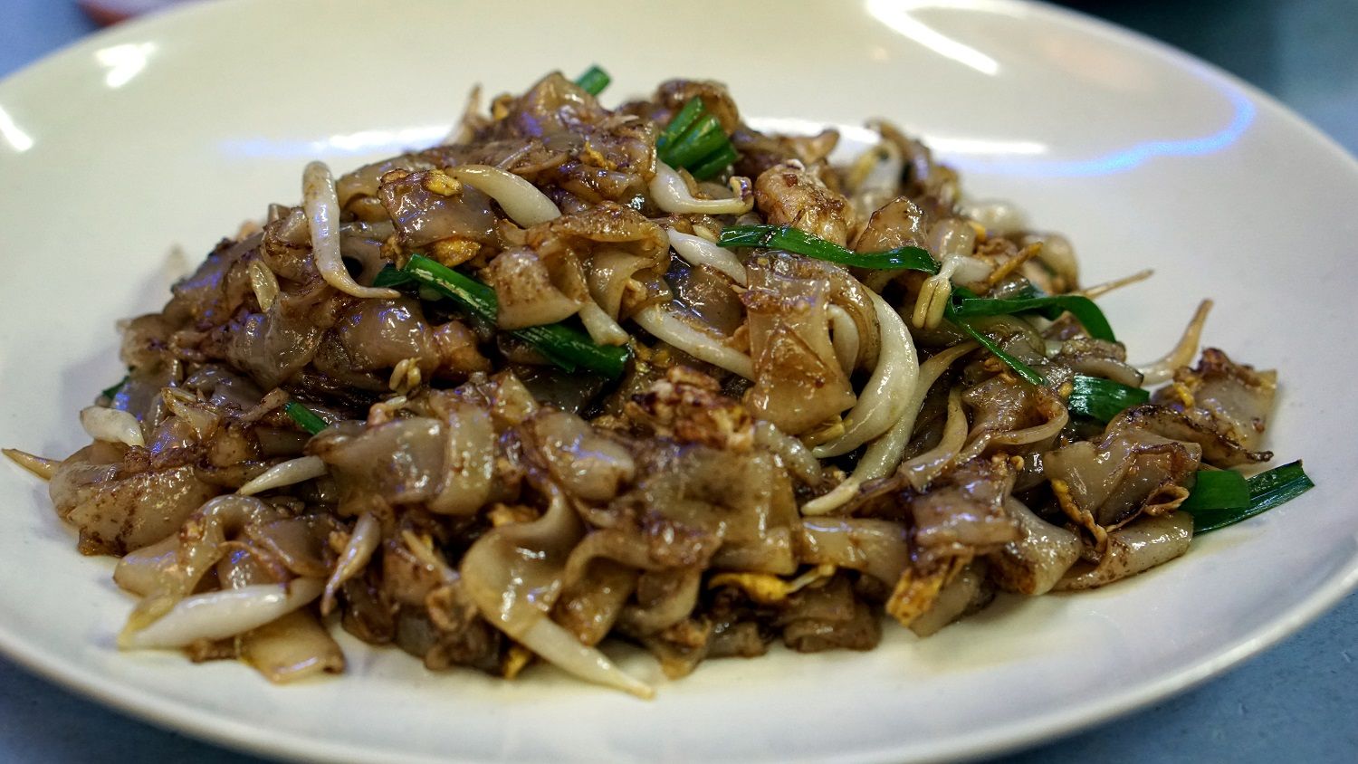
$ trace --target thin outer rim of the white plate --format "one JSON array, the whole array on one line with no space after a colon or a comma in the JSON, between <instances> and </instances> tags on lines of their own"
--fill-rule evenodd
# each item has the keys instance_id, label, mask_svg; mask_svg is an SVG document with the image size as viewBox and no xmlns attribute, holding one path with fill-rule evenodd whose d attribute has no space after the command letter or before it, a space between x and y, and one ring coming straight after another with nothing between
<instances>
[{"instance_id":1,"label":"thin outer rim of the white plate","mask_svg":"<svg viewBox=\"0 0 1358 764\"><path fill-rule=\"evenodd\" d=\"M60 66L64 60L102 47L113 41L137 37L144 30L159 28L164 33L166 28L183 23L183 19L189 16L206 16L217 12L253 12L239 11L239 8L258 7L268 1L186 3L120 23L115 27L98 30L69 45L46 53L0 79L0 96L7 91L23 87L27 80L41 79L48 69ZM1127 45L1143 56L1173 65L1175 69L1192 69L1206 73L1211 79L1240 91L1253 106L1267 110L1272 118L1285 122L1290 130L1296 130L1316 147L1323 148L1331 155L1332 160L1346 168L1347 174L1358 178L1358 157L1343 148L1335 138L1272 95L1213 62L1137 30L1074 8L1055 5L1046 0L985 0L983 3L978 3L976 7L980 11L985 11L986 7L1019 9L1020 14L1032 14L1038 18L1067 24L1081 33L1095 34L1103 39ZM227 11L225 8L231 9ZM1344 596L1354 590L1358 590L1358 551L1354 551L1343 565L1338 566L1305 598L1241 636L1222 642L1207 657L1179 672L1130 684L1126 689L1104 695L1088 704L1061 706L1036 717L993 725L967 737L952 736L922 746L918 744L913 746L910 744L881 745L832 755L822 760L842 764L888 760L972 760L1004 752L1017 752L1044 741L1055 741L1078 730L1133 714L1158 700L1181 695L1224 674L1244 661L1275 647L1283 639L1332 609ZM84 699L100 703L115 712L130 715L162 730L186 733L232 750L293 761L371 761L375 757L378 760L390 760L392 756L390 750L380 750L363 744L331 742L325 738L312 738L301 733L276 727L258 729L231 717L204 710L202 707L175 703L172 699L158 695L151 689L117 684L107 674L68 664L60 655L43 650L41 643L23 639L7 623L0 623L0 651L23 669L53 681L58 687ZM409 752L398 753L398 760L418 763L483 761L481 759L445 756L433 759Z\"/></svg>"}]
</instances>

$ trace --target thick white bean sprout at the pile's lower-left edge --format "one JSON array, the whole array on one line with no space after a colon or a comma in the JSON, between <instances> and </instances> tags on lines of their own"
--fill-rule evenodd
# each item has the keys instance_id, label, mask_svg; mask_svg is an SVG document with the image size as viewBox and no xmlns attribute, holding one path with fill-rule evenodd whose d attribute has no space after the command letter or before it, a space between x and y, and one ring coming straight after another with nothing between
<instances>
[{"instance_id":1,"label":"thick white bean sprout at the pile's lower-left edge","mask_svg":"<svg viewBox=\"0 0 1358 764\"><path fill-rule=\"evenodd\" d=\"M319 578L295 578L287 585L258 584L191 594L144 628L118 635L124 650L185 647L200 639L224 639L261 627L320 596Z\"/></svg>"}]
</instances>

